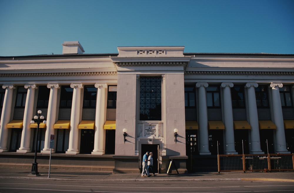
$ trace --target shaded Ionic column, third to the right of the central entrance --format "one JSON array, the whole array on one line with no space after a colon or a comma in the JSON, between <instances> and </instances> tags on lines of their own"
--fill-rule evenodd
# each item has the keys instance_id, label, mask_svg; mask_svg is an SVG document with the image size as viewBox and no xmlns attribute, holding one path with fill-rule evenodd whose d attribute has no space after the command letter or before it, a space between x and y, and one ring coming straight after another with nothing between
<instances>
[{"instance_id":1,"label":"shaded Ionic column, third to the right of the central entrance","mask_svg":"<svg viewBox=\"0 0 294 193\"><path fill-rule=\"evenodd\" d=\"M255 89L257 83L246 83L247 88L247 101L248 101L248 122L251 126L250 129L250 154L263 154L264 152L260 148L260 136L258 127L258 113L256 106Z\"/></svg>"}]
</instances>

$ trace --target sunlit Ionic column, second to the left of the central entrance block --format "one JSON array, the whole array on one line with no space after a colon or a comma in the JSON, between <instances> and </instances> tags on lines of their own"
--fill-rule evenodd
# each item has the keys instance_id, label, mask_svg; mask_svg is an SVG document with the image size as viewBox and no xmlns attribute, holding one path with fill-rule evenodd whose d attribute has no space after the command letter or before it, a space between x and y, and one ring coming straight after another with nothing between
<instances>
[{"instance_id":1,"label":"sunlit Ionic column, second to the left of the central entrance block","mask_svg":"<svg viewBox=\"0 0 294 193\"><path fill-rule=\"evenodd\" d=\"M72 106L71 106L71 123L69 131L69 149L66 154L78 154L78 124L80 121L81 107L81 83L71 83L71 88L74 88Z\"/></svg>"}]
</instances>

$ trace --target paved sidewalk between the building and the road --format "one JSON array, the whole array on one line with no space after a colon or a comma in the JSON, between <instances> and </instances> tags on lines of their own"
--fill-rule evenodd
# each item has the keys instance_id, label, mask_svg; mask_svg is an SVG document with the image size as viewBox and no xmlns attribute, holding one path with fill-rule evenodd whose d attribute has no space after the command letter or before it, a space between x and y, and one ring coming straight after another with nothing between
<instances>
[{"instance_id":1,"label":"paved sidewalk between the building and the road","mask_svg":"<svg viewBox=\"0 0 294 193\"><path fill-rule=\"evenodd\" d=\"M294 172L202 172L188 174L156 174L141 177L141 174L112 174L110 172L38 169L40 176L29 175L30 169L0 168L0 179L41 179L64 181L284 181L294 182Z\"/></svg>"}]
</instances>

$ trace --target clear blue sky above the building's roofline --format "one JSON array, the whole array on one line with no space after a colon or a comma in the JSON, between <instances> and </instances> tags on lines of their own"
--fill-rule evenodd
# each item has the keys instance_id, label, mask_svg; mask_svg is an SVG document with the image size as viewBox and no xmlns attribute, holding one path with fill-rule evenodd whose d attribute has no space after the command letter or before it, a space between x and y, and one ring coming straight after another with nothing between
<instances>
[{"instance_id":1,"label":"clear blue sky above the building's roofline","mask_svg":"<svg viewBox=\"0 0 294 193\"><path fill-rule=\"evenodd\" d=\"M294 0L0 0L0 56L62 54L64 41L294 54Z\"/></svg>"}]
</instances>

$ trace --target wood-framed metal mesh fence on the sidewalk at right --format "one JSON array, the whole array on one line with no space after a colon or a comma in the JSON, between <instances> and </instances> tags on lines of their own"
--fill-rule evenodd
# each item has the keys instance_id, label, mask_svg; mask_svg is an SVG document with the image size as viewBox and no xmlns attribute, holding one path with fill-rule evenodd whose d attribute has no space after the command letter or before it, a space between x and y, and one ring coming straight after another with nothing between
<instances>
[{"instance_id":1,"label":"wood-framed metal mesh fence on the sidewalk at right","mask_svg":"<svg viewBox=\"0 0 294 193\"><path fill-rule=\"evenodd\" d=\"M294 154L218 155L218 173L230 171L294 171Z\"/></svg>"}]
</instances>

